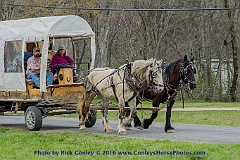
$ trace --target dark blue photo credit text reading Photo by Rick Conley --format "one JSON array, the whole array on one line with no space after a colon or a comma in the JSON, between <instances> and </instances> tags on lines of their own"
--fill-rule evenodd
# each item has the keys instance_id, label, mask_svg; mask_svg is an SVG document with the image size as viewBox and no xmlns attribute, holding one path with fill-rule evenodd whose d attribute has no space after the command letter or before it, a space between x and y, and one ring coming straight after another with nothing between
<instances>
[{"instance_id":1,"label":"dark blue photo credit text reading Photo by Rick Conley","mask_svg":"<svg viewBox=\"0 0 240 160\"><path fill-rule=\"evenodd\" d=\"M48 155L55 155L55 156L60 156L60 155L75 155L75 156L81 156L81 155L88 155L88 156L93 156L93 155L206 155L205 151L114 151L114 150L96 150L96 151L81 151L81 150L60 150L60 151L40 151L40 150L35 150L34 155L42 155L42 156L48 156Z\"/></svg>"}]
</instances>

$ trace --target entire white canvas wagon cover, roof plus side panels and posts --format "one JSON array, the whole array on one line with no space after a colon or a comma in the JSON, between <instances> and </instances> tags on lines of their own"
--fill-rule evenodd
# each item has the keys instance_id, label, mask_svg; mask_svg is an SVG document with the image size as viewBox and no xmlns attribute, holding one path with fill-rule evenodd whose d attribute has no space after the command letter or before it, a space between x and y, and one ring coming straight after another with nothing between
<instances>
[{"instance_id":1,"label":"entire white canvas wagon cover, roof plus side panels and posts","mask_svg":"<svg viewBox=\"0 0 240 160\"><path fill-rule=\"evenodd\" d=\"M88 37L91 38L91 54L93 67L95 57L95 33L90 25L81 17L75 15L51 16L9 20L0 22L0 57L4 57L6 41L22 40L22 63L26 42L43 41L42 66L47 68L47 53L49 37ZM24 65L22 65L24 66ZM25 73L5 73L4 60L0 58L0 91L25 91ZM42 71L41 71L42 73ZM41 84L46 84L46 74L41 74ZM46 91L42 85L41 91Z\"/></svg>"}]
</instances>

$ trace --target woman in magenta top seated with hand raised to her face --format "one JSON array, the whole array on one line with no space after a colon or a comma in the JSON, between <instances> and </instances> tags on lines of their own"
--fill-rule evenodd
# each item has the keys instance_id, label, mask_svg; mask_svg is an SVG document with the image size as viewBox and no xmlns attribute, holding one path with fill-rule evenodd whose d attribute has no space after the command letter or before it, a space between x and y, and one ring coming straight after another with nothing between
<instances>
[{"instance_id":1,"label":"woman in magenta top seated with hand raised to her face","mask_svg":"<svg viewBox=\"0 0 240 160\"><path fill-rule=\"evenodd\" d=\"M68 56L63 45L58 47L57 53L53 56L51 66L52 73L54 74L54 80L57 79L57 74L60 68L73 68L73 60L70 56ZM75 76L75 72L73 72L73 76Z\"/></svg>"}]
</instances>

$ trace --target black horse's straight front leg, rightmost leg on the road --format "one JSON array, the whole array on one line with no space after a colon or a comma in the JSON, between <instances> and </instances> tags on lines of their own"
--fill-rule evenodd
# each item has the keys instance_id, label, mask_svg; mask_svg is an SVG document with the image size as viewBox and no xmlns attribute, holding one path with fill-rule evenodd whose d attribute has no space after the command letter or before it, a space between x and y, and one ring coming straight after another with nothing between
<instances>
[{"instance_id":1,"label":"black horse's straight front leg, rightmost leg on the road","mask_svg":"<svg viewBox=\"0 0 240 160\"><path fill-rule=\"evenodd\" d=\"M165 132L167 133L174 133L175 129L171 125L171 114L172 114L172 106L175 100L170 100L169 104L167 105L167 112L166 112L166 124L165 124Z\"/></svg>"}]
</instances>

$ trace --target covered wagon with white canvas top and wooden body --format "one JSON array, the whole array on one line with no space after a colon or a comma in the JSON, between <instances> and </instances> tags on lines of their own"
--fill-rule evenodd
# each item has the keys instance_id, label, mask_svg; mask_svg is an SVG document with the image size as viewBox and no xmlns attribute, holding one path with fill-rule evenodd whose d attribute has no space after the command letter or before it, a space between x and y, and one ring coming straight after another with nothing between
<instances>
[{"instance_id":1,"label":"covered wagon with white canvas top and wooden body","mask_svg":"<svg viewBox=\"0 0 240 160\"><path fill-rule=\"evenodd\" d=\"M75 63L71 69L61 68L57 83L47 86L46 71L59 45L65 46ZM86 67L80 65L83 53L79 53L77 47L81 45L88 49ZM26 63L34 47L42 53L40 88L26 78ZM39 130L43 116L75 111L78 98L84 92L82 70L94 67L95 33L83 18L75 15L2 21L0 57L0 112L24 111L27 128ZM72 69L77 73L75 77ZM93 120L92 125L94 123Z\"/></svg>"}]
</instances>

